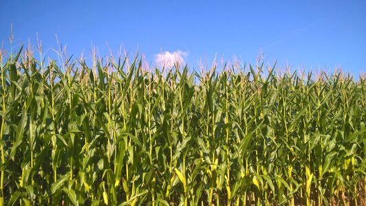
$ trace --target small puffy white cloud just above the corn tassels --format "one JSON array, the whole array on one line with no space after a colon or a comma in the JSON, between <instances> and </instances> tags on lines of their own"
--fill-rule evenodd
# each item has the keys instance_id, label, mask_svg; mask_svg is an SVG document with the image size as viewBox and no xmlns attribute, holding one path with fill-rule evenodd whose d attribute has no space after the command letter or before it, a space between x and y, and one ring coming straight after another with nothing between
<instances>
[{"instance_id":1,"label":"small puffy white cloud just above the corn tassels","mask_svg":"<svg viewBox=\"0 0 366 206\"><path fill-rule=\"evenodd\" d=\"M175 63L179 65L184 64L184 58L188 56L188 52L182 52L177 50L175 52L161 52L159 54L155 54L155 62L156 65L161 67L173 67Z\"/></svg>"}]
</instances>

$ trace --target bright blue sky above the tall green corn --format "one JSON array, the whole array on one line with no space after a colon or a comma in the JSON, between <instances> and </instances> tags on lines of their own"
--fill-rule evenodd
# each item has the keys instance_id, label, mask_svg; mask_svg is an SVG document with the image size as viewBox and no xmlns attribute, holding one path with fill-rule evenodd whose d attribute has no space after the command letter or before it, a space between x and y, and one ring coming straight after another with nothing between
<instances>
[{"instance_id":1,"label":"bright blue sky above the tall green corn","mask_svg":"<svg viewBox=\"0 0 366 206\"><path fill-rule=\"evenodd\" d=\"M100 54L121 43L154 62L159 52L188 52L186 61L241 56L292 69L341 66L355 76L366 71L366 1L1 1L0 40L56 47L67 54ZM49 50L49 54L52 50Z\"/></svg>"}]
</instances>

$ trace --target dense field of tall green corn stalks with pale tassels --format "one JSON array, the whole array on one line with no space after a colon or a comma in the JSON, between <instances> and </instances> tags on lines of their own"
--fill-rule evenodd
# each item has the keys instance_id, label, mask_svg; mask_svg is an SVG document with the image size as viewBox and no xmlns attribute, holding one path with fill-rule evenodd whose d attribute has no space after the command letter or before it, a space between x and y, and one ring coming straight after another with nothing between
<instances>
[{"instance_id":1,"label":"dense field of tall green corn stalks with pale tassels","mask_svg":"<svg viewBox=\"0 0 366 206\"><path fill-rule=\"evenodd\" d=\"M0 57L0 205L366 204L363 76Z\"/></svg>"}]
</instances>

